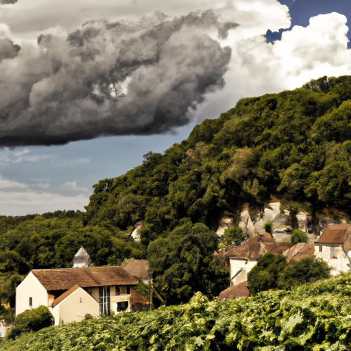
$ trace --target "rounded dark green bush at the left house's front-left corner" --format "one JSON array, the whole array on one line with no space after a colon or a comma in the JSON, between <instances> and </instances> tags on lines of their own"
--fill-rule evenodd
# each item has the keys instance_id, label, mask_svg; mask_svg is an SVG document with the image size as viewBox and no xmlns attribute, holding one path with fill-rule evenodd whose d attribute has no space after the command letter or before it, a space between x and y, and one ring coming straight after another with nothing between
<instances>
[{"instance_id":1,"label":"rounded dark green bush at the left house's front-left corner","mask_svg":"<svg viewBox=\"0 0 351 351\"><path fill-rule=\"evenodd\" d=\"M53 324L55 324L55 319L49 308L46 306L32 308L17 315L16 325L10 328L8 339L15 339L23 332L37 332L40 329L53 326Z\"/></svg>"}]
</instances>

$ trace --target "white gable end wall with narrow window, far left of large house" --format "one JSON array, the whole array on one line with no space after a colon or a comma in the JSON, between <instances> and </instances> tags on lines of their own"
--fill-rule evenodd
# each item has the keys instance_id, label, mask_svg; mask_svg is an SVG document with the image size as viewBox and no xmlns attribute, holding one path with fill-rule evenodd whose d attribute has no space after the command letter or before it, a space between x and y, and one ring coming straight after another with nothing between
<instances>
[{"instance_id":1,"label":"white gable end wall with narrow window, far left of large house","mask_svg":"<svg viewBox=\"0 0 351 351\"><path fill-rule=\"evenodd\" d=\"M32 298L32 308L48 305L47 291L32 272L16 289L16 315L30 308L29 298Z\"/></svg>"}]
</instances>

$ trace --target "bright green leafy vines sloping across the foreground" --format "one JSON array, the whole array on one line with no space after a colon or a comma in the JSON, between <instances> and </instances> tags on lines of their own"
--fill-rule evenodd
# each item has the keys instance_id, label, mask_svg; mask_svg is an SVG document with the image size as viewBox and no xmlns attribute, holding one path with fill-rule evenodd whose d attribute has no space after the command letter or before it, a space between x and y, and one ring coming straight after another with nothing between
<instances>
[{"instance_id":1,"label":"bright green leafy vines sloping across the foreground","mask_svg":"<svg viewBox=\"0 0 351 351\"><path fill-rule=\"evenodd\" d=\"M351 350L351 276L291 291L66 324L0 343L7 351Z\"/></svg>"}]
</instances>

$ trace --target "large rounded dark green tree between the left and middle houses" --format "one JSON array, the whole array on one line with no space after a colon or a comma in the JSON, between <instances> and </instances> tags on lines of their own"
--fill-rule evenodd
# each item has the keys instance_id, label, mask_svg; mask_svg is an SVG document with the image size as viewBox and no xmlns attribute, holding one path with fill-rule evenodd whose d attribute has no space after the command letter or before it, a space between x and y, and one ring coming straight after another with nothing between
<instances>
[{"instance_id":1,"label":"large rounded dark green tree between the left and middle houses","mask_svg":"<svg viewBox=\"0 0 351 351\"><path fill-rule=\"evenodd\" d=\"M214 298L228 287L227 269L210 259L218 240L204 224L193 226L188 220L149 244L150 272L167 304L187 302L197 291Z\"/></svg>"}]
</instances>

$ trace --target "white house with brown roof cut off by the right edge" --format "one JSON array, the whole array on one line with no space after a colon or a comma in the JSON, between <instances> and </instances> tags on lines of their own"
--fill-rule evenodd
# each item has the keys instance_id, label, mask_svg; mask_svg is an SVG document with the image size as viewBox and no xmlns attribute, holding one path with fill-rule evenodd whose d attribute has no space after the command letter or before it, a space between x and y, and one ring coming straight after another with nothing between
<instances>
[{"instance_id":1,"label":"white house with brown roof cut off by the right edge","mask_svg":"<svg viewBox=\"0 0 351 351\"><path fill-rule=\"evenodd\" d=\"M332 275L351 267L351 224L330 224L315 241L315 256L326 261Z\"/></svg>"}]
</instances>

